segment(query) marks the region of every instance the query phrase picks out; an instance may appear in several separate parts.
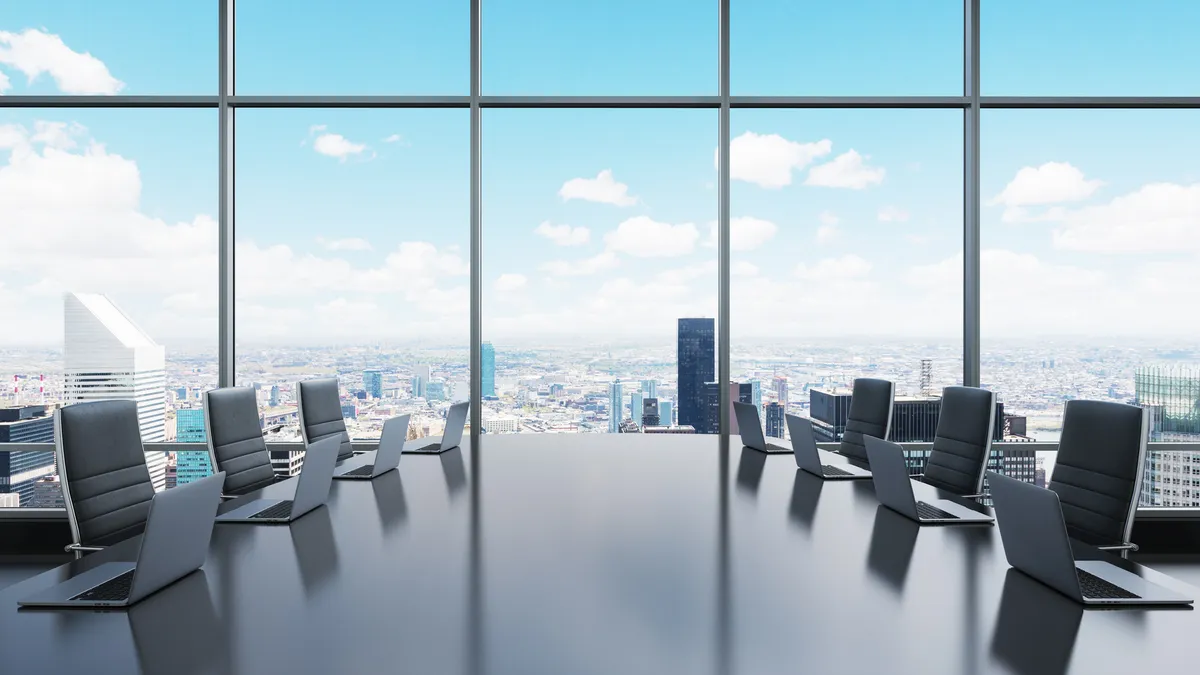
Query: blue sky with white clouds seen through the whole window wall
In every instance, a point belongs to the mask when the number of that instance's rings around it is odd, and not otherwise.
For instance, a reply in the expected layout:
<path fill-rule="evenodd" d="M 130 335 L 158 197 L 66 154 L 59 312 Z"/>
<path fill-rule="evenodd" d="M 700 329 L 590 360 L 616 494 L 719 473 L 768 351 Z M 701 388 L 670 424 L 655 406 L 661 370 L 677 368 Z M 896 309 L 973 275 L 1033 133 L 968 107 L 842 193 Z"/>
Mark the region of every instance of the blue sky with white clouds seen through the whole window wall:
<path fill-rule="evenodd" d="M 738 95 L 961 92 L 961 2 L 732 4 Z M 238 7 L 239 94 L 466 94 L 469 4 Z M 1086 10 L 1086 11 L 1085 11 Z M 215 94 L 216 4 L 8 0 L 0 96 Z M 484 6 L 485 94 L 716 92 L 716 2 Z M 206 28 L 205 28 L 206 26 Z M 985 0 L 985 95 L 1198 95 L 1200 4 Z M 962 114 L 732 124 L 734 339 L 961 340 Z M 1196 110 L 984 110 L 983 335 L 1194 335 Z M 484 330 L 715 316 L 715 110 L 487 109 Z M 215 347 L 215 110 L 0 107 L 0 345 L 107 293 Z M 468 342 L 466 110 L 236 114 L 240 344 Z M 1115 317 L 1136 317 L 1117 321 Z M 211 336 L 208 339 L 205 336 Z"/>

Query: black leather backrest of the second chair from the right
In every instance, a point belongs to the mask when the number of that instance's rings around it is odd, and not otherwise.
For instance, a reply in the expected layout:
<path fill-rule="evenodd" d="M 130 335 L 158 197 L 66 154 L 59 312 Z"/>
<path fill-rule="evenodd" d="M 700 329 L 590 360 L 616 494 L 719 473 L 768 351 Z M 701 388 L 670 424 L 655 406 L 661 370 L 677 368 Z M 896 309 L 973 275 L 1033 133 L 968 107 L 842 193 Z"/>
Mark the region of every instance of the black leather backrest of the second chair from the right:
<path fill-rule="evenodd" d="M 996 394 L 976 387 L 942 389 L 934 449 L 922 480 L 956 495 L 978 495 L 996 428 Z"/>

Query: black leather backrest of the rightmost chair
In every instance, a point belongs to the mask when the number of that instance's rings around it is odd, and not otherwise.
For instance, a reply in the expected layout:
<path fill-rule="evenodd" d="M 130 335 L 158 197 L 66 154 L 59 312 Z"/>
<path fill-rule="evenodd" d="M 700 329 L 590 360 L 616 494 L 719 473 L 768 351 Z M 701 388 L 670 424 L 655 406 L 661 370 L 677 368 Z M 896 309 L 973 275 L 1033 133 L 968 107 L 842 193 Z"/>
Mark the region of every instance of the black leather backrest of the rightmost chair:
<path fill-rule="evenodd" d="M 1048 488 L 1067 533 L 1093 545 L 1129 540 L 1146 462 L 1150 411 L 1110 401 L 1067 401 Z"/>

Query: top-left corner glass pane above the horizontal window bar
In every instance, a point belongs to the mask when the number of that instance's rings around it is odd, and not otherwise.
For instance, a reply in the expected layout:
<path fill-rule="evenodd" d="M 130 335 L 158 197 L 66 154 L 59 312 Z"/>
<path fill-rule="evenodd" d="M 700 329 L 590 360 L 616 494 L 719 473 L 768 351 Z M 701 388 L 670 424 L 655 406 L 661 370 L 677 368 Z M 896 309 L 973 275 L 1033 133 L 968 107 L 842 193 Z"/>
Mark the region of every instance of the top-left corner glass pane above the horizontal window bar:
<path fill-rule="evenodd" d="M 208 0 L 5 0 L 0 95 L 216 95 L 217 7 Z"/>

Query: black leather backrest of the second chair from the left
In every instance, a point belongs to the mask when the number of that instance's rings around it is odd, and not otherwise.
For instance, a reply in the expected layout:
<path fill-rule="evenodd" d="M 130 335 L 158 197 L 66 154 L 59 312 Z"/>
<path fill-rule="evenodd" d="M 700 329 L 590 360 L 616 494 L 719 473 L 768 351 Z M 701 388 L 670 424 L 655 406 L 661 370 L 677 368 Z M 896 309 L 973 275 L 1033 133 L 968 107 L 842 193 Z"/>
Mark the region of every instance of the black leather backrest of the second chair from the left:
<path fill-rule="evenodd" d="M 212 472 L 226 474 L 222 492 L 239 495 L 275 482 L 271 454 L 258 422 L 258 401 L 250 387 L 204 393 L 204 430 Z"/>

